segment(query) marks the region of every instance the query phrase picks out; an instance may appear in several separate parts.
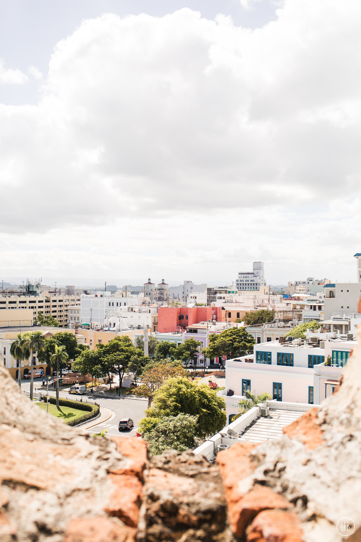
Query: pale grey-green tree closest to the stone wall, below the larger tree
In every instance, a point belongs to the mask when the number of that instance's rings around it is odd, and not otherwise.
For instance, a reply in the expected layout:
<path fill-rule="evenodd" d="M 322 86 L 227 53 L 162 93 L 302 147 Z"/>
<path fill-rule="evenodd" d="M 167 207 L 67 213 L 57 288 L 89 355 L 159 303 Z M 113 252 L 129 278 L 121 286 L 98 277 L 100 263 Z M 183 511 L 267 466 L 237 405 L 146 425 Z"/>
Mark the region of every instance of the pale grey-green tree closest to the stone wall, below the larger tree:
<path fill-rule="evenodd" d="M 150 431 L 146 430 L 146 424 L 143 428 L 141 420 L 139 430 L 143 440 L 149 442 L 150 453 L 159 455 L 165 450 L 185 451 L 194 448 L 196 425 L 196 416 L 178 414 L 178 416 L 165 416 L 156 420 Z"/>

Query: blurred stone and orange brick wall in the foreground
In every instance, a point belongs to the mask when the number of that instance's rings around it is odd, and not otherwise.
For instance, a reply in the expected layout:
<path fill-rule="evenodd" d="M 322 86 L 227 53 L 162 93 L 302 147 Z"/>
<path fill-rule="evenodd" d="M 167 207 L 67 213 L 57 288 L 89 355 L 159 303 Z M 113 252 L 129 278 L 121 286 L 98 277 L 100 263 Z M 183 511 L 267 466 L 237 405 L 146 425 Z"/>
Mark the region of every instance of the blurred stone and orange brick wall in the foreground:
<path fill-rule="evenodd" d="M 0 540 L 361 540 L 361 350 L 339 391 L 278 440 L 234 444 L 211 466 L 191 451 L 149 457 L 47 416 L 0 368 Z"/>

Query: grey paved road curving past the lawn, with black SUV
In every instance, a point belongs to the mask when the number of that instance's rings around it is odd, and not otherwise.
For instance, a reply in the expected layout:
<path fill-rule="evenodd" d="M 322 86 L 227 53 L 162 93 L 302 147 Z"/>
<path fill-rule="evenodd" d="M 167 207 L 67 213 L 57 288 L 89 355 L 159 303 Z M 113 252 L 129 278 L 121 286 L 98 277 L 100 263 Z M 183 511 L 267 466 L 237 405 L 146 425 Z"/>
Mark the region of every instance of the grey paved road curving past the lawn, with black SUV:
<path fill-rule="evenodd" d="M 34 389 L 40 388 L 42 384 L 42 379 L 36 379 L 34 380 Z M 30 391 L 30 381 L 29 380 L 22 380 L 21 381 L 21 389 L 25 391 Z M 44 392 L 45 390 L 43 390 Z M 54 388 L 49 388 L 49 395 L 55 397 L 55 390 Z M 63 397 L 64 399 L 74 399 L 78 396 L 69 395 L 68 391 L 62 390 L 59 392 L 59 396 Z M 84 396 L 83 396 L 84 397 Z M 106 422 L 100 423 L 99 425 L 95 425 L 91 429 L 89 429 L 89 433 L 100 433 L 103 429 L 107 428 L 107 432 L 109 435 L 122 435 L 122 436 L 135 436 L 136 429 L 138 427 L 138 423 L 140 420 L 145 417 L 144 411 L 148 407 L 148 399 L 137 399 L 137 398 L 123 398 L 123 397 L 109 397 L 109 398 L 98 398 L 95 394 L 94 396 L 91 396 L 89 394 L 90 401 L 95 401 L 96 403 L 100 404 L 101 407 L 110 409 L 114 412 L 114 415 L 107 420 Z M 122 418 L 132 418 L 134 422 L 134 429 L 131 431 L 119 431 L 118 430 L 118 424 L 119 420 Z M 96 421 L 94 421 L 96 423 Z M 89 421 L 88 424 L 83 425 L 80 427 L 80 429 L 85 428 L 87 426 L 91 425 L 91 421 Z"/>

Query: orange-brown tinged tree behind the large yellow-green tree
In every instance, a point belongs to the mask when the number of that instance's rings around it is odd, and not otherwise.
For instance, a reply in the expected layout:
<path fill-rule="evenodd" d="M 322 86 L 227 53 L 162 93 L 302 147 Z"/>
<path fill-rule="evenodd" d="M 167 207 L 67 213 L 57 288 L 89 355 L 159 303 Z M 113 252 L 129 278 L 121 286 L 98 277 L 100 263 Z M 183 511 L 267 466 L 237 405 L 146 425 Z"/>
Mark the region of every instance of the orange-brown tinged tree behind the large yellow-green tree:
<path fill-rule="evenodd" d="M 182 366 L 171 363 L 156 363 L 143 372 L 142 384 L 137 386 L 134 393 L 139 397 L 148 399 L 148 408 L 152 404 L 154 394 L 165 383 L 168 378 L 176 376 L 187 376 L 187 371 Z"/>

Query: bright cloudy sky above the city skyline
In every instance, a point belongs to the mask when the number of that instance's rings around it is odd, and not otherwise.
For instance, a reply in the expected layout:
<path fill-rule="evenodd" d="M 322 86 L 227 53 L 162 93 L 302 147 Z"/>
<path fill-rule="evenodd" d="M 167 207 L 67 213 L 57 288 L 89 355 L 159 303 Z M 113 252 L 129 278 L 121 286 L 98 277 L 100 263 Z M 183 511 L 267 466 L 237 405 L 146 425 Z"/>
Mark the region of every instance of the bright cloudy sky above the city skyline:
<path fill-rule="evenodd" d="M 356 280 L 357 0 L 0 1 L 4 280 Z M 116 282 L 115 282 L 116 281 Z"/>

